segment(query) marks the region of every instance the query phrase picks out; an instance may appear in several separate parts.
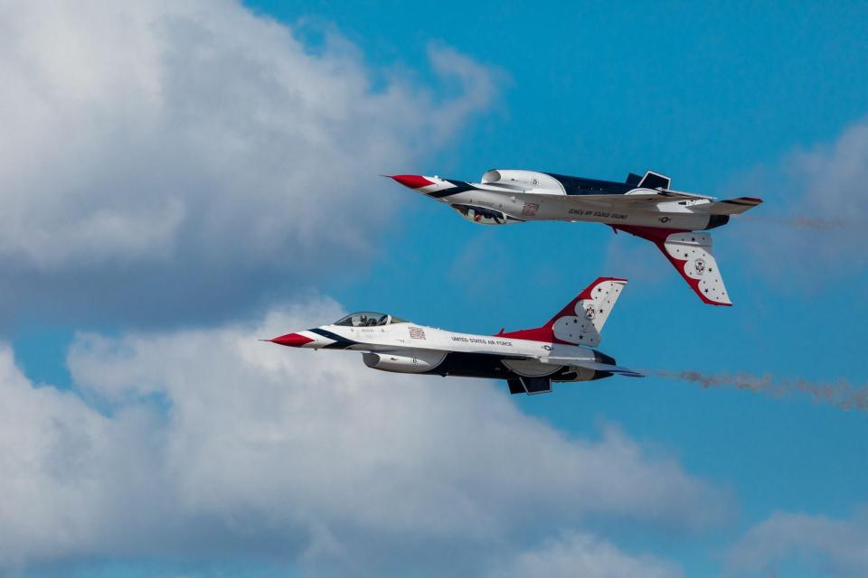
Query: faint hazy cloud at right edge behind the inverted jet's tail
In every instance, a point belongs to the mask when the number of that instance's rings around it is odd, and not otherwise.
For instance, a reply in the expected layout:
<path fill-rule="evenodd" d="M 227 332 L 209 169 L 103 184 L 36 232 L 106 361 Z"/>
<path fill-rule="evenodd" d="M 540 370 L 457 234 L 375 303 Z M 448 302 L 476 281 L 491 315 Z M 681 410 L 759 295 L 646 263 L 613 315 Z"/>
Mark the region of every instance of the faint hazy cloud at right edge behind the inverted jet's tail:
<path fill-rule="evenodd" d="M 752 229 L 744 240 L 754 265 L 764 275 L 816 290 L 829 276 L 863 271 L 866 182 L 868 119 L 846 127 L 831 144 L 793 152 L 777 166 L 742 177 L 738 186 L 769 201 L 740 218 Z"/>

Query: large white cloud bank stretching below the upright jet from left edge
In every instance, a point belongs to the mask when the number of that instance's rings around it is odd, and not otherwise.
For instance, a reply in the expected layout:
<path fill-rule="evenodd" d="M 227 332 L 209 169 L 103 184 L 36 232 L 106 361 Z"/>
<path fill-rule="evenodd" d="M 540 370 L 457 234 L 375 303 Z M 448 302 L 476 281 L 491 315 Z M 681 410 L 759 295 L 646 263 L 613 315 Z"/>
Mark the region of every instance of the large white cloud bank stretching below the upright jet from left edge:
<path fill-rule="evenodd" d="M 726 517 L 725 492 L 614 425 L 573 438 L 490 382 L 384 374 L 357 353 L 256 340 L 340 309 L 83 334 L 73 392 L 34 386 L 3 348 L 2 565 L 220 555 L 312 573 L 478 573 L 590 519 L 689 532 Z M 583 540 L 552 547 L 619 559 Z"/>

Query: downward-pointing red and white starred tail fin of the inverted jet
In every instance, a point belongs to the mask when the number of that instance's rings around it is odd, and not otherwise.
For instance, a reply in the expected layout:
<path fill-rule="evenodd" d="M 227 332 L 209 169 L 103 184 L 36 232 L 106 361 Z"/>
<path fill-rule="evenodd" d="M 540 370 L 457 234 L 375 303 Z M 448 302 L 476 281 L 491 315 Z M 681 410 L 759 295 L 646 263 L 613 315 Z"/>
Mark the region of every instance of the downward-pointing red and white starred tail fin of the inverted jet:
<path fill-rule="evenodd" d="M 645 238 L 654 243 L 684 281 L 699 295 L 703 303 L 710 305 L 731 305 L 726 287 L 723 285 L 721 271 L 712 254 L 710 233 L 673 231 L 665 228 L 636 227 L 615 225 L 613 228 L 630 235 Z"/>

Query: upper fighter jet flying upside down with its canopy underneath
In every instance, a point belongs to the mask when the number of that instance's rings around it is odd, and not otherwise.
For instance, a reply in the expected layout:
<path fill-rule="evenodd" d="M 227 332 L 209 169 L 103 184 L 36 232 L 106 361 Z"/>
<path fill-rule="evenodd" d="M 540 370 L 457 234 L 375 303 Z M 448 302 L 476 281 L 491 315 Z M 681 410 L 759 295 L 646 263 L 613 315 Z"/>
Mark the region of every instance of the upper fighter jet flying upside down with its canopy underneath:
<path fill-rule="evenodd" d="M 587 221 L 609 225 L 653 242 L 704 303 L 731 305 L 712 255 L 712 236 L 697 232 L 721 227 L 759 205 L 753 197 L 714 197 L 670 189 L 669 177 L 648 171 L 625 182 L 598 181 L 552 172 L 493 169 L 482 182 L 416 174 L 392 176 L 402 185 L 448 203 L 482 225 L 531 220 Z"/>

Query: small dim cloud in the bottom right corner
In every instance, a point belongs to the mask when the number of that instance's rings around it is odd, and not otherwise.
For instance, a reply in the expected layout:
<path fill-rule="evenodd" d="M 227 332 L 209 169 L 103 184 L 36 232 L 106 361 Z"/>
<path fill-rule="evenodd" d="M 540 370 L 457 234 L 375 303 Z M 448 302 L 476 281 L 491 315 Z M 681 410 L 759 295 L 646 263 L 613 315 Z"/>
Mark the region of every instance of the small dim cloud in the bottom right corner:
<path fill-rule="evenodd" d="M 823 575 L 868 575 L 868 508 L 851 519 L 833 519 L 777 512 L 751 527 L 731 548 L 731 573 L 776 575 L 778 568 L 797 562 Z"/>

